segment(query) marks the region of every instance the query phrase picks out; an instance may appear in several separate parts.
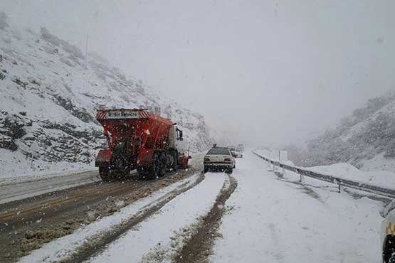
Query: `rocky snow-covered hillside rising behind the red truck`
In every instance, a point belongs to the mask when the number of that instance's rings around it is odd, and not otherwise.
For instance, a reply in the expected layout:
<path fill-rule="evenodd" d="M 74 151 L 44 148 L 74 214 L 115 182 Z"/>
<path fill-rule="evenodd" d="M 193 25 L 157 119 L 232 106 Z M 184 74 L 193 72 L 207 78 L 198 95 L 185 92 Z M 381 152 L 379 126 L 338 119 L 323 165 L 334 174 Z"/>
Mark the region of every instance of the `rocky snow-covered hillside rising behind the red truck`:
<path fill-rule="evenodd" d="M 109 65 L 53 36 L 17 31 L 0 16 L 0 177 L 90 166 L 103 144 L 99 107 L 160 111 L 184 129 L 192 151 L 211 143 L 204 117 L 157 95 Z"/>

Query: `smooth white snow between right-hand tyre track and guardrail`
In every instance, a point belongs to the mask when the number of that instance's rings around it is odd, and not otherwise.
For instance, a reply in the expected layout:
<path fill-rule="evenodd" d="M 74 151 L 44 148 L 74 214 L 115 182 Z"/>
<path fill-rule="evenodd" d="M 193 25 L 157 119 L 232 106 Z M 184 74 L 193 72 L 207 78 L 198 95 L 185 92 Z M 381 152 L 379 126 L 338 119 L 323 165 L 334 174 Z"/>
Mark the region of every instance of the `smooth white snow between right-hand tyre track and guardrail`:
<path fill-rule="evenodd" d="M 253 154 L 237 159 L 211 262 L 381 262 L 381 202 L 302 186 L 289 172 L 280 181 L 267 168 Z"/>

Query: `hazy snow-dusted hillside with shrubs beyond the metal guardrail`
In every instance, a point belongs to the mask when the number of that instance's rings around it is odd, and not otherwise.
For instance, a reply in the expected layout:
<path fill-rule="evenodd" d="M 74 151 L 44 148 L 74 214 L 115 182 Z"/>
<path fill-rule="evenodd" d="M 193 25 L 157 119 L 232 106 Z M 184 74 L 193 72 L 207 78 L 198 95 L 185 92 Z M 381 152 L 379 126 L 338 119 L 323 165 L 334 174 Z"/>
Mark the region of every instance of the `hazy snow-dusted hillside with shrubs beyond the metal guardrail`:
<path fill-rule="evenodd" d="M 395 171 L 395 95 L 367 102 L 341 120 L 335 129 L 307 141 L 307 151 L 290 147 L 300 166 L 351 163 L 362 170 Z"/>

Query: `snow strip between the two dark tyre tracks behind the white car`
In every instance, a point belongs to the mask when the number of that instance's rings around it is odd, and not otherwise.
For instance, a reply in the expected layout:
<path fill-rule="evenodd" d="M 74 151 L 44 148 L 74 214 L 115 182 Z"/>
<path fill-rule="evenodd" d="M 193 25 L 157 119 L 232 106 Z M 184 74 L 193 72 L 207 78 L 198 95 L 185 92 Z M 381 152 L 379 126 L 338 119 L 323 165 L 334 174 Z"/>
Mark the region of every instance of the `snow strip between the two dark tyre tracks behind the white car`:
<path fill-rule="evenodd" d="M 209 213 L 225 178 L 224 173 L 206 173 L 198 186 L 174 198 L 90 262 L 171 262 L 189 235 L 184 230 Z"/>

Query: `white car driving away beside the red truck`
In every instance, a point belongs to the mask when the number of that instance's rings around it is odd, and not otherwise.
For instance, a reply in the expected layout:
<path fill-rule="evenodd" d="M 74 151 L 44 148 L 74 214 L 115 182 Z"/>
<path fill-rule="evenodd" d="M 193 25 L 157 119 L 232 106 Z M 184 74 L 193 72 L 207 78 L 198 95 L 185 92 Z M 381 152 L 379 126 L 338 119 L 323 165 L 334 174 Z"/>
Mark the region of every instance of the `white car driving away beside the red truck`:
<path fill-rule="evenodd" d="M 236 168 L 236 160 L 227 148 L 212 148 L 204 156 L 204 172 L 225 171 L 232 173 Z"/>

